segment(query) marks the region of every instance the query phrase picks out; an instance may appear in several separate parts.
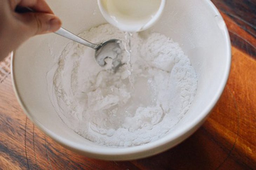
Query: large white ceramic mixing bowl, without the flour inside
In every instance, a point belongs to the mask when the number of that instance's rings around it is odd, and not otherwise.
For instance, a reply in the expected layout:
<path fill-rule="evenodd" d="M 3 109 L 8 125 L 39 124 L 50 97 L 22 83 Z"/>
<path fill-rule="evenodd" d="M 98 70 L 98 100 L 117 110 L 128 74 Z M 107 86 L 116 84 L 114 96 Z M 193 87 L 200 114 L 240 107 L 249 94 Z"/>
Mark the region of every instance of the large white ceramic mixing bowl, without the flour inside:
<path fill-rule="evenodd" d="M 63 27 L 80 33 L 106 23 L 95 0 L 54 0 L 49 5 Z M 186 116 L 165 137 L 130 148 L 92 143 L 68 129 L 54 111 L 47 93 L 46 74 L 69 41 L 55 34 L 36 36 L 12 57 L 12 75 L 17 98 L 29 117 L 48 136 L 88 157 L 130 160 L 174 147 L 202 125 L 220 98 L 228 79 L 231 54 L 225 23 L 210 0 L 167 1 L 161 19 L 152 27 L 178 42 L 198 75 L 198 90 Z M 52 47 L 49 49 L 49 47 Z"/>

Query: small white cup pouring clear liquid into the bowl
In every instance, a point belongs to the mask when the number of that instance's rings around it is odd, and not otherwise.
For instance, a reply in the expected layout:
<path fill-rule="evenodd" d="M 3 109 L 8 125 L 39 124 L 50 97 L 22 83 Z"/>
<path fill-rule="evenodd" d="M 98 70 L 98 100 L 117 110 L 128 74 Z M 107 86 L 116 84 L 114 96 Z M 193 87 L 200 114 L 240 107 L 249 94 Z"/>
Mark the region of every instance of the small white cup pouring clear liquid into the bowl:
<path fill-rule="evenodd" d="M 103 17 L 122 31 L 148 29 L 160 18 L 166 0 L 97 0 Z"/>

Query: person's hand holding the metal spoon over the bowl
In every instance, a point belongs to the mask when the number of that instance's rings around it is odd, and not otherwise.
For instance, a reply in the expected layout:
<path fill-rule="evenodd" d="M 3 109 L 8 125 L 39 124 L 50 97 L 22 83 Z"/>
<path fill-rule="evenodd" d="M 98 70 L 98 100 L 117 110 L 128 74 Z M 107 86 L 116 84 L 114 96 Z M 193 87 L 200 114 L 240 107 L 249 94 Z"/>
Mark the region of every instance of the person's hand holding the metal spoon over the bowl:
<path fill-rule="evenodd" d="M 36 12 L 19 14 L 16 6 Z M 57 31 L 61 21 L 45 0 L 1 0 L 0 2 L 0 61 L 28 38 Z"/>

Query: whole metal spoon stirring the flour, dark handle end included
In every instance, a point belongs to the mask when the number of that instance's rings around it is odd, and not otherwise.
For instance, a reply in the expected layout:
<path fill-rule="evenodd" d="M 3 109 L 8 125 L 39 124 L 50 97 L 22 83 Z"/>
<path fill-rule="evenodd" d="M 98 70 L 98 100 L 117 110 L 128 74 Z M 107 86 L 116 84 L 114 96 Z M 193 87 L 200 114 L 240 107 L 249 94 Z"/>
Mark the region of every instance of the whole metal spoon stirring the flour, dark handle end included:
<path fill-rule="evenodd" d="M 15 8 L 15 12 L 26 13 L 26 12 L 34 12 L 34 10 L 28 7 L 17 6 Z M 83 44 L 87 47 L 93 48 L 95 50 L 94 58 L 96 62 L 102 67 L 107 64 L 105 61 L 106 58 L 112 59 L 112 69 L 114 71 L 116 71 L 121 65 L 123 65 L 121 63 L 121 58 L 120 58 L 120 53 L 121 53 L 121 48 L 119 45 L 121 42 L 120 40 L 111 39 L 111 40 L 102 42 L 100 44 L 94 44 L 71 33 L 70 31 L 62 27 L 58 31 L 56 31 L 55 34 L 61 35 L 65 38 L 68 38 L 69 40 L 72 40 L 80 44 Z"/>

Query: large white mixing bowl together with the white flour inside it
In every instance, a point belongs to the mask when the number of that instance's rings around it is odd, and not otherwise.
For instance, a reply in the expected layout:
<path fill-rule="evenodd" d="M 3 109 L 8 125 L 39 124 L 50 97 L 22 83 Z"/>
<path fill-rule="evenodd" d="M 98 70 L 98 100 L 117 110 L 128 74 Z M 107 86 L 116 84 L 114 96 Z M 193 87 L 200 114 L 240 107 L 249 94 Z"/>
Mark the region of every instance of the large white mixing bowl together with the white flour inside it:
<path fill-rule="evenodd" d="M 66 28 L 92 42 L 124 38 L 94 1 L 49 4 Z M 105 160 L 147 157 L 182 142 L 227 82 L 230 41 L 220 13 L 208 0 L 167 1 L 155 26 L 131 42 L 132 68 L 124 64 L 116 73 L 98 66 L 93 50 L 58 35 L 23 44 L 12 75 L 28 117 L 63 146 Z M 120 54 L 126 63 L 126 51 Z"/>

